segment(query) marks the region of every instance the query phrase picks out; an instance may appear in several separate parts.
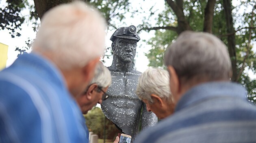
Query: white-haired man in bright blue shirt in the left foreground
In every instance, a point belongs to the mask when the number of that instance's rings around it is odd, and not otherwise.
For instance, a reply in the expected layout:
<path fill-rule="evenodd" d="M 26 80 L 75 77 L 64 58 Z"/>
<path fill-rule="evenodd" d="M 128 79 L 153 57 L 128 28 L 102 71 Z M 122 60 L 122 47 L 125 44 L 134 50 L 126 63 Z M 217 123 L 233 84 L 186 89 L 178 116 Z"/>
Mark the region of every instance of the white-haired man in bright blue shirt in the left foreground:
<path fill-rule="evenodd" d="M 32 53 L 0 72 L 0 142 L 88 143 L 74 97 L 93 78 L 104 40 L 103 17 L 84 2 L 46 12 Z"/>

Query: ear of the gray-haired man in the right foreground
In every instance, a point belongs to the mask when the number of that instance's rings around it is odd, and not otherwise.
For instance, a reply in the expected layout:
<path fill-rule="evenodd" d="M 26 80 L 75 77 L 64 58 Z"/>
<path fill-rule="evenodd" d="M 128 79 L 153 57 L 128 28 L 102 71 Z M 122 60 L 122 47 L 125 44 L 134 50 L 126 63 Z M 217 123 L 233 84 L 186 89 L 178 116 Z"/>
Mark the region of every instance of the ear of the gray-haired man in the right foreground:
<path fill-rule="evenodd" d="M 173 66 L 168 65 L 167 67 L 170 74 L 170 89 L 171 93 L 174 95 L 174 102 L 178 101 L 181 96 L 181 84 L 178 78 L 178 74 Z"/>

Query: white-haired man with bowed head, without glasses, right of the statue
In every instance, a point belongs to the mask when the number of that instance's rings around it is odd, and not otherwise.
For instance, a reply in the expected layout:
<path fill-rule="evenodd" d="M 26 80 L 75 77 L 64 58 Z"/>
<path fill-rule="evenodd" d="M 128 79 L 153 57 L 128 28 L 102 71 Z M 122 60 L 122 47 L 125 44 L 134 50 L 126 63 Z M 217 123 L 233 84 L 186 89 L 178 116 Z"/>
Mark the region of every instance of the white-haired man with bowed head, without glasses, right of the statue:
<path fill-rule="evenodd" d="M 139 77 L 136 93 L 146 104 L 147 110 L 154 112 L 159 119 L 174 112 L 168 71 L 159 68 L 144 71 Z"/>

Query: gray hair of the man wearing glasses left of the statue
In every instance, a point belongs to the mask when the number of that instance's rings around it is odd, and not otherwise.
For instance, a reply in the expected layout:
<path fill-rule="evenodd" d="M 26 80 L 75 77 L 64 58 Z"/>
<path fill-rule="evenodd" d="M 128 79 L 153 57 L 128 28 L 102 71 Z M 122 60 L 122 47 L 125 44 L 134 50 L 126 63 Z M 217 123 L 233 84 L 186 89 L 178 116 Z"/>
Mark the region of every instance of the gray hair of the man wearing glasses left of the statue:
<path fill-rule="evenodd" d="M 101 62 L 99 62 L 96 65 L 94 77 L 88 85 L 96 83 L 99 87 L 106 88 L 111 84 L 111 82 L 112 78 L 110 71 Z"/>

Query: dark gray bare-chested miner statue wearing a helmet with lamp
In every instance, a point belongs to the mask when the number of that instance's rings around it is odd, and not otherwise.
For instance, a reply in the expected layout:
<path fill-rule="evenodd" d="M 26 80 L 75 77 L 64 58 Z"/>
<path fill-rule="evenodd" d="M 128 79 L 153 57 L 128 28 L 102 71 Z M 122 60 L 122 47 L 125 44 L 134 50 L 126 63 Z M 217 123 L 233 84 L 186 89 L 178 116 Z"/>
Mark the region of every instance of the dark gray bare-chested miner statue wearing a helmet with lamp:
<path fill-rule="evenodd" d="M 132 142 L 142 129 L 154 126 L 158 120 L 156 115 L 147 111 L 146 105 L 136 95 L 138 78 L 141 72 L 135 69 L 133 59 L 137 42 L 140 40 L 136 27 L 120 27 L 111 36 L 113 42 L 113 63 L 111 71 L 112 84 L 109 86 L 108 99 L 102 101 L 102 111 L 122 132 L 132 136 Z M 141 113 L 142 111 L 142 113 Z"/>

